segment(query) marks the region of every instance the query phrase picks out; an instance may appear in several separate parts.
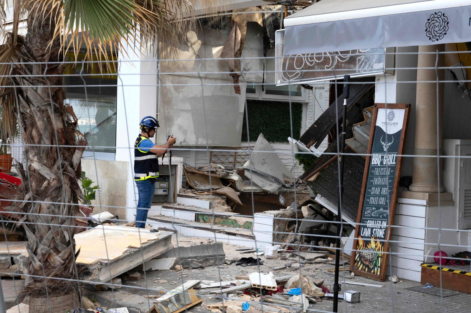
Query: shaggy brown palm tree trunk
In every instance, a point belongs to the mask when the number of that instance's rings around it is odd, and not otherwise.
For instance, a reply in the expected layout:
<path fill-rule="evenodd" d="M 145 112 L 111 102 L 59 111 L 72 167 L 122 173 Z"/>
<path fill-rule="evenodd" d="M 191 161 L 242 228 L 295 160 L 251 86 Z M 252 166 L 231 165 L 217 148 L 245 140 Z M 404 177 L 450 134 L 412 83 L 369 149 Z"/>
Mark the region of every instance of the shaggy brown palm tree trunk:
<path fill-rule="evenodd" d="M 78 291 L 77 282 L 67 279 L 78 278 L 73 216 L 81 197 L 77 178 L 84 148 L 76 146 L 84 145 L 84 140 L 79 139 L 72 107 L 64 105 L 65 65 L 57 63 L 63 55 L 59 42 L 50 42 L 55 21 L 49 14 L 35 14 L 32 6 L 25 44 L 17 57 L 17 62 L 24 63 L 14 67 L 13 76 L 26 144 L 19 190 L 24 201 L 15 206 L 23 215 L 28 238 L 30 276 L 22 295 L 51 297 Z"/>

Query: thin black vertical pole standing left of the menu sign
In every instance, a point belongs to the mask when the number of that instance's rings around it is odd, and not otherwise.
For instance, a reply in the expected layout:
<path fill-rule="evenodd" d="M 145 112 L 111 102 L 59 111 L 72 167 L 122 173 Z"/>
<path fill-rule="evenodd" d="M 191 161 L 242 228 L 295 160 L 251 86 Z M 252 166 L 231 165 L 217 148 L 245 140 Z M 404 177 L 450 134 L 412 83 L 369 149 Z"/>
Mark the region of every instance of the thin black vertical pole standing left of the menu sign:
<path fill-rule="evenodd" d="M 339 170 L 339 202 L 337 207 L 337 242 L 335 248 L 335 278 L 333 281 L 333 312 L 338 312 L 339 305 L 339 267 L 340 267 L 340 225 L 341 225 L 341 199 L 343 194 L 343 156 L 341 153 L 345 150 L 345 127 L 347 124 L 347 99 L 349 98 L 350 75 L 343 76 L 343 115 L 342 115 L 342 137 L 340 141 L 340 170 Z"/>

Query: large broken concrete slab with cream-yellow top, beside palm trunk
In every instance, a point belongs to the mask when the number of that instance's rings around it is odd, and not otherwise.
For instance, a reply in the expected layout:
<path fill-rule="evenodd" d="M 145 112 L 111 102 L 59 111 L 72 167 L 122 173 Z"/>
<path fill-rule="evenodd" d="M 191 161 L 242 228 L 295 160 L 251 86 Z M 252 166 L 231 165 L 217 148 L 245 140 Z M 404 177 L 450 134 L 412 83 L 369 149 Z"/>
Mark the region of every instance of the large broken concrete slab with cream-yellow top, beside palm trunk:
<path fill-rule="evenodd" d="M 86 280 L 103 283 L 170 250 L 171 235 L 135 227 L 99 225 L 75 235 L 75 247 L 80 248 L 76 263 L 88 268 L 90 274 Z"/>

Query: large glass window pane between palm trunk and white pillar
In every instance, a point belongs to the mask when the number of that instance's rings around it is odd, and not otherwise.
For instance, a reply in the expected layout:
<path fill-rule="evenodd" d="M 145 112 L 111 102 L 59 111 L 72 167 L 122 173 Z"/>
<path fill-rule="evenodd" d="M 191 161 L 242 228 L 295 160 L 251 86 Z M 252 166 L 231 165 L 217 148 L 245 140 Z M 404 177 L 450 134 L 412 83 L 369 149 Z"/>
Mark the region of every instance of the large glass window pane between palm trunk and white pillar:
<path fill-rule="evenodd" d="M 116 152 L 116 97 L 68 98 L 64 102 L 73 107 L 79 130 L 88 140 L 85 151 Z"/>

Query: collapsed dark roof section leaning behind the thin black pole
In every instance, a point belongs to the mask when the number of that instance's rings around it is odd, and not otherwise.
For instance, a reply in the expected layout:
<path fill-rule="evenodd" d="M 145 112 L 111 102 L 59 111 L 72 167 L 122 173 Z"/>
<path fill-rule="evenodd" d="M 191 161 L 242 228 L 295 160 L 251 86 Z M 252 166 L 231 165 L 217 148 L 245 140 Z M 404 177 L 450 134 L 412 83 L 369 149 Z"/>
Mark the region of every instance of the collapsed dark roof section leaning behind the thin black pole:
<path fill-rule="evenodd" d="M 365 153 L 365 143 L 367 145 L 369 127 L 371 122 L 371 109 L 368 107 L 374 104 L 374 83 L 372 78 L 363 78 L 352 84 L 350 87 L 350 98 L 347 99 L 347 123 L 345 125 L 345 136 L 348 147 L 345 153 L 344 178 L 343 178 L 343 199 L 342 218 L 349 223 L 357 220 L 358 204 L 360 200 L 363 173 L 365 169 L 365 158 L 361 155 L 351 155 L 351 153 Z M 363 83 L 362 83 L 363 82 Z M 340 85 L 339 85 L 340 86 Z M 298 144 L 305 145 L 306 148 L 317 148 L 324 138 L 335 130 L 334 126 L 342 118 L 343 99 L 339 97 L 335 102 L 317 119 L 308 131 L 306 131 L 298 141 Z M 337 107 L 337 109 L 336 109 Z M 341 126 L 339 125 L 339 128 Z M 338 132 L 335 133 L 340 133 Z M 309 169 L 300 176 L 306 181 L 309 188 L 317 196 L 315 201 L 325 208 L 337 214 L 337 203 L 339 199 L 339 164 L 338 145 L 336 138 L 331 145 L 316 159 Z"/>

